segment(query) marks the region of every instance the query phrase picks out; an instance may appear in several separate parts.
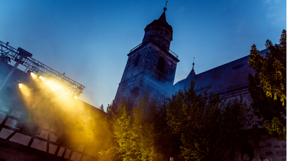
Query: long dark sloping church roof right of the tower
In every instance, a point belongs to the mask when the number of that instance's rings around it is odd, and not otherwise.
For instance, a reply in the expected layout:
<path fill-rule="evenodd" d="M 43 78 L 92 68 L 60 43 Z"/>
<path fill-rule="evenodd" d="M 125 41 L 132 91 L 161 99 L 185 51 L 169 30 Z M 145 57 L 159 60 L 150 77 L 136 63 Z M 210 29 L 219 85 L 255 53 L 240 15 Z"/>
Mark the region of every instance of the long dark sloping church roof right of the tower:
<path fill-rule="evenodd" d="M 267 49 L 262 50 L 260 51 L 260 54 L 265 56 L 266 51 Z M 195 88 L 198 93 L 205 90 L 208 85 L 211 85 L 211 89 L 209 90 L 210 92 L 224 92 L 242 87 L 247 88 L 248 74 L 255 73 L 254 70 L 249 67 L 248 60 L 249 55 L 197 75 L 188 76 L 186 79 L 174 84 L 173 94 L 182 90 L 184 86 L 188 88 L 190 86 L 191 79 L 195 81 Z"/>

